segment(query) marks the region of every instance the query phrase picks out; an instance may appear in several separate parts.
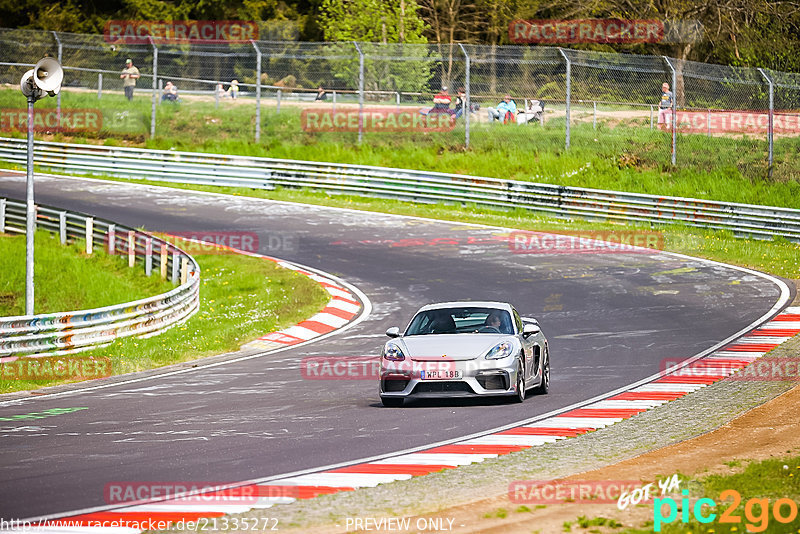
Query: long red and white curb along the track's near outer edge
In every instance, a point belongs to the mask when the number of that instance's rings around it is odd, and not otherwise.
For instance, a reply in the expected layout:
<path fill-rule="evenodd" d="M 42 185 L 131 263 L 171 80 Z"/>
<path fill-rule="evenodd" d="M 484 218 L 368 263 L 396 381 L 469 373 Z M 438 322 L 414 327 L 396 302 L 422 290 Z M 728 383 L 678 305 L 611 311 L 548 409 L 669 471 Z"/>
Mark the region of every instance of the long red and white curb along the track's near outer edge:
<path fill-rule="evenodd" d="M 337 297 L 342 296 L 334 295 L 333 298 Z M 329 312 L 323 310 L 320 313 Z M 316 332 L 314 328 L 307 330 Z M 297 330 L 292 332 L 298 333 Z M 302 339 L 295 334 L 288 335 Z M 529 424 L 354 465 L 242 483 L 250 488 L 251 497 L 240 502 L 236 502 L 236 498 L 230 496 L 228 491 L 222 490 L 62 517 L 50 520 L 48 526 L 41 528 L 47 532 L 65 534 L 134 534 L 148 528 L 148 521 L 177 523 L 196 522 L 200 518 L 213 519 L 253 508 L 269 508 L 321 494 L 374 487 L 482 462 L 487 458 L 592 432 L 683 397 L 744 369 L 797 334 L 800 334 L 800 307 L 786 308 L 771 321 L 688 365 L 668 369 L 650 382 L 614 392 L 607 398 Z M 198 500 L 207 502 L 198 504 Z M 125 526 L 132 524 L 139 528 Z"/>

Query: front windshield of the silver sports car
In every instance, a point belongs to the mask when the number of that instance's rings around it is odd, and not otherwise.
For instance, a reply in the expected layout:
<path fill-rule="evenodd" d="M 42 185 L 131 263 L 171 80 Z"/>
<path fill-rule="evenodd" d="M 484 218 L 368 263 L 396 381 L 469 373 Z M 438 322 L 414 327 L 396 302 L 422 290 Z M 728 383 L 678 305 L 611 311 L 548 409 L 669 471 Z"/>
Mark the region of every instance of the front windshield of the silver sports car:
<path fill-rule="evenodd" d="M 513 334 L 511 314 L 497 308 L 439 308 L 418 313 L 407 336 L 425 334 Z"/>

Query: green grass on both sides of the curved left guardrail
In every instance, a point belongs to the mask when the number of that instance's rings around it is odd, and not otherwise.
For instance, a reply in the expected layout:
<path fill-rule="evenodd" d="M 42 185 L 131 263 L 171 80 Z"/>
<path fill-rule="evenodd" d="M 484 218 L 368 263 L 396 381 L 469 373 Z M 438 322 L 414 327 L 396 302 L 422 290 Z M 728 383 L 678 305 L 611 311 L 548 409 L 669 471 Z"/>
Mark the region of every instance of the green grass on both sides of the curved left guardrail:
<path fill-rule="evenodd" d="M 102 251 L 86 257 L 80 242 L 61 246 L 46 232 L 37 233 L 36 240 L 36 296 L 41 302 L 37 313 L 119 304 L 174 287 L 157 276 L 147 278 L 139 264 L 129 269 L 120 257 Z M 24 254 L 24 236 L 0 234 L 0 317 L 24 311 Z M 319 284 L 268 260 L 241 255 L 195 255 L 195 259 L 201 269 L 197 314 L 163 334 L 117 340 L 79 356 L 109 358 L 114 375 L 154 369 L 237 350 L 247 341 L 313 315 L 328 301 Z M 4 379 L 0 373 L 0 393 L 61 383 Z"/>

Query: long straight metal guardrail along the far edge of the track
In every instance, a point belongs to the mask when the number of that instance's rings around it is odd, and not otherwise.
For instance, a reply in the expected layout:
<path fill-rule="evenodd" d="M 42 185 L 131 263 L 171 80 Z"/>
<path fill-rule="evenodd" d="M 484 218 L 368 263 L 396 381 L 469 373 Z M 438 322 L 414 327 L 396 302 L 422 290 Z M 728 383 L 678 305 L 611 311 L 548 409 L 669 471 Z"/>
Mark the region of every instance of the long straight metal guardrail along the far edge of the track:
<path fill-rule="evenodd" d="M 0 138 L 0 160 L 25 164 L 25 140 Z M 200 185 L 307 187 L 414 202 L 523 208 L 554 217 L 680 223 L 758 238 L 800 241 L 800 210 L 366 165 L 169 150 L 37 142 L 37 165 L 54 171 Z"/>

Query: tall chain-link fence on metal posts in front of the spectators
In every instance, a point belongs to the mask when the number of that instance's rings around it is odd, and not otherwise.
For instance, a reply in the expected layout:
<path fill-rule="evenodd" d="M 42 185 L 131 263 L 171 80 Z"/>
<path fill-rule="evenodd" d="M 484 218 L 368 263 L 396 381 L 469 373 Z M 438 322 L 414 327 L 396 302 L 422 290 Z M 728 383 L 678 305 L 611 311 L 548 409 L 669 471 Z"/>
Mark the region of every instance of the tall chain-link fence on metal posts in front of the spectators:
<path fill-rule="evenodd" d="M 401 136 L 443 149 L 502 143 L 556 151 L 602 145 L 620 167 L 800 179 L 800 75 L 792 73 L 552 47 L 120 44 L 102 35 L 0 29 L 0 83 L 18 87 L 44 55 L 61 60 L 65 79 L 58 101 L 37 107 L 55 107 L 59 116 L 62 107 L 100 110 L 101 137 L 379 145 Z M 131 102 L 120 78 L 126 59 L 141 75 Z M 165 94 L 168 82 L 177 103 Z M 663 83 L 674 98 L 659 113 Z M 0 107 L 24 108 L 21 97 L 10 99 Z M 187 108 L 197 113 L 181 112 Z"/>

